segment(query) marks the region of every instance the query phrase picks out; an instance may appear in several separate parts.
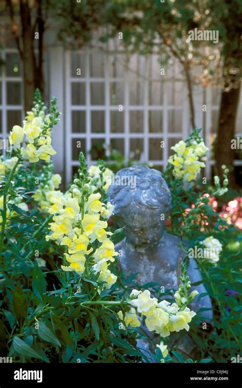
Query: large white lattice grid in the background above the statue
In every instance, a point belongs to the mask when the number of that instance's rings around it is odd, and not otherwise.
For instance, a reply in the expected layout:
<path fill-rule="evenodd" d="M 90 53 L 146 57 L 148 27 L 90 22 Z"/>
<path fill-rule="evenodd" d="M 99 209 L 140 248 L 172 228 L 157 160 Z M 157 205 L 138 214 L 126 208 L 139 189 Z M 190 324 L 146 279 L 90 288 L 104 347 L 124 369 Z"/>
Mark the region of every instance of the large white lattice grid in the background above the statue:
<path fill-rule="evenodd" d="M 72 159 L 72 139 L 86 139 L 86 160 L 88 164 L 95 163 L 96 161 L 91 160 L 91 156 L 88 151 L 91 149 L 91 139 L 105 139 L 105 143 L 110 144 L 112 138 L 124 139 L 124 156 L 125 160 L 128 160 L 130 155 L 129 139 L 142 138 L 143 139 L 143 159 L 145 162 L 149 162 L 156 166 L 164 168 L 167 164 L 168 158 L 168 139 L 181 139 L 186 138 L 189 132 L 189 117 L 184 114 L 188 111 L 188 101 L 186 88 L 183 88 L 184 96 L 182 98 L 182 105 L 168 105 L 166 88 L 168 87 L 168 81 L 162 78 L 151 78 L 148 74 L 148 66 L 146 65 L 146 76 L 143 78 L 143 104 L 138 106 L 129 105 L 129 77 L 118 78 L 109 77 L 108 74 L 108 61 L 110 54 L 105 55 L 105 76 L 104 78 L 90 77 L 90 63 L 89 54 L 95 50 L 85 48 L 77 53 L 86 53 L 86 75 L 77 77 L 71 77 L 71 51 L 65 52 L 65 91 L 66 91 L 66 104 L 65 104 L 65 115 L 66 115 L 66 130 L 65 130 L 65 173 L 66 173 L 66 184 L 71 179 L 72 167 L 78 165 L 78 160 Z M 161 76 L 162 77 L 162 76 Z M 138 81 L 138 79 L 137 79 Z M 150 105 L 149 104 L 149 82 L 161 82 L 163 81 L 164 92 L 163 92 L 163 104 L 162 105 Z M 179 79 L 178 81 L 183 82 Z M 71 105 L 71 82 L 82 82 L 85 83 L 85 105 Z M 104 105 L 93 105 L 91 106 L 90 101 L 90 82 L 104 82 L 105 84 L 105 104 Z M 110 131 L 110 111 L 117 111 L 117 106 L 110 105 L 109 85 L 111 82 L 123 82 L 124 83 L 124 132 L 122 133 L 111 133 Z M 118 104 L 118 103 L 117 103 Z M 120 102 L 121 104 L 121 102 Z M 71 112 L 72 111 L 85 111 L 86 112 L 86 132 L 85 133 L 72 133 L 71 132 Z M 105 112 L 105 132 L 104 133 L 91 133 L 91 111 L 104 111 Z M 129 112 L 130 111 L 142 111 L 143 112 L 143 132 L 141 133 L 130 133 L 129 132 Z M 149 111 L 162 111 L 163 113 L 163 131 L 161 133 L 150 133 L 149 132 Z M 181 132 L 171 133 L 168 131 L 168 112 L 170 110 L 178 110 L 182 113 L 181 119 Z M 161 160 L 153 160 L 149 158 L 149 139 L 161 139 L 164 141 L 165 147 L 162 152 Z M 81 150 L 80 150 L 81 151 Z"/>

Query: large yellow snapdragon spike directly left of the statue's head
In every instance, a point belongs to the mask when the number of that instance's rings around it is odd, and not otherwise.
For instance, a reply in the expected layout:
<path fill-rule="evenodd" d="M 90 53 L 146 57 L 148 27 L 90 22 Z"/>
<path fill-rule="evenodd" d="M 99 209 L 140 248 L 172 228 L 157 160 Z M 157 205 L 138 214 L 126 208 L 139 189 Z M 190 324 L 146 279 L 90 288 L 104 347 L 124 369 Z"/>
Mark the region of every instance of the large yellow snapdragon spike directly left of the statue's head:
<path fill-rule="evenodd" d="M 64 195 L 54 194 L 50 198 L 52 206 L 49 212 L 54 216 L 50 223 L 52 233 L 46 239 L 56 240 L 66 247 L 67 253 L 64 256 L 69 265 L 62 265 L 63 271 L 76 272 L 82 276 L 88 265 L 96 281 L 110 288 L 117 277 L 109 270 L 109 264 L 114 261 L 117 252 L 109 239 L 112 233 L 106 230 L 108 224 L 101 220 L 105 205 L 100 201 L 101 194 L 92 192 L 83 153 L 80 153 L 79 162 L 79 178 L 74 180 Z"/>

